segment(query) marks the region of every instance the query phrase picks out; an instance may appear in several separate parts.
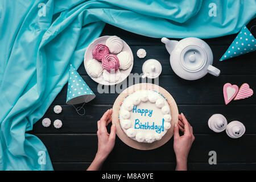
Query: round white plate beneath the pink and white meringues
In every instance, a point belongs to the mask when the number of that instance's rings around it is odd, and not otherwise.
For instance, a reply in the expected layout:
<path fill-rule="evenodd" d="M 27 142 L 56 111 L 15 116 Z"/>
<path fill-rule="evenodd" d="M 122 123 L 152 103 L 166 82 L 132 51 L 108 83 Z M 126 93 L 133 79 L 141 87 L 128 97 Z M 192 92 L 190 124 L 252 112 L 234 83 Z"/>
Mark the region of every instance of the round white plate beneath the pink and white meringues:
<path fill-rule="evenodd" d="M 87 47 L 86 51 L 85 51 L 85 54 L 84 54 L 84 67 L 85 67 L 85 70 L 86 70 L 86 61 L 89 61 L 91 59 L 93 59 L 93 56 L 92 56 L 92 50 L 93 48 L 97 45 L 97 44 L 104 44 L 106 43 L 106 40 L 109 38 L 110 36 L 106 35 L 106 36 L 101 36 L 100 38 L 98 39 L 95 39 L 92 43 L 90 43 L 90 45 Z M 126 44 L 125 41 L 123 41 L 123 49 L 122 51 L 127 51 L 130 53 L 130 56 L 131 56 L 131 60 L 133 61 L 133 52 L 131 52 L 131 48 L 128 46 L 128 44 Z M 133 69 L 133 63 L 131 63 L 131 66 L 130 68 L 128 69 L 120 69 L 120 72 L 121 72 L 121 76 L 119 78 L 118 81 L 116 82 L 108 82 L 106 80 L 104 80 L 102 74 L 101 76 L 97 77 L 97 78 L 93 78 L 93 77 L 90 77 L 92 78 L 94 81 L 96 81 L 98 84 L 101 84 L 101 85 L 115 85 L 115 84 L 119 84 L 120 82 L 122 82 L 123 80 L 125 80 L 125 78 L 127 78 L 127 76 L 129 76 L 129 74 L 131 73 L 131 69 Z M 86 70 L 87 72 L 87 70 Z M 88 73 L 88 72 L 87 72 Z"/>

